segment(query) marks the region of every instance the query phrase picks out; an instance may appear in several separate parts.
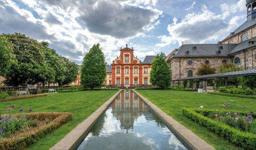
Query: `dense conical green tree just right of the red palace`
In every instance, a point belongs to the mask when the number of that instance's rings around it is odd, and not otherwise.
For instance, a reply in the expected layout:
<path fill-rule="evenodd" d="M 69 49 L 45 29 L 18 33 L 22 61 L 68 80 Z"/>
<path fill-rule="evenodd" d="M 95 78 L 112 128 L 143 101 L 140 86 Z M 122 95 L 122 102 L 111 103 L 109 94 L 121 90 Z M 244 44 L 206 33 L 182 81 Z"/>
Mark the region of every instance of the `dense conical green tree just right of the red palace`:
<path fill-rule="evenodd" d="M 157 54 L 152 62 L 152 70 L 150 71 L 150 82 L 153 85 L 168 88 L 171 85 L 171 70 L 170 66 L 165 61 L 165 54 L 161 52 Z"/>

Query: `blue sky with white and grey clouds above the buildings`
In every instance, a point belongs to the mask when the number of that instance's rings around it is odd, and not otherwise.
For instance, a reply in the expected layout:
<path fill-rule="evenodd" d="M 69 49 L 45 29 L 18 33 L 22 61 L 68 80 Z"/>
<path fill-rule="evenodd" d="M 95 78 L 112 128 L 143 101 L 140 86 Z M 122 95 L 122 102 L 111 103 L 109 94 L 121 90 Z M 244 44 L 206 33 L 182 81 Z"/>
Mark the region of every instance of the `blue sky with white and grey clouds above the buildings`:
<path fill-rule="evenodd" d="M 217 43 L 246 21 L 246 0 L 0 0 L 0 33 L 49 43 L 82 64 L 99 43 L 108 64 L 120 48 L 168 55 L 184 44 Z"/>

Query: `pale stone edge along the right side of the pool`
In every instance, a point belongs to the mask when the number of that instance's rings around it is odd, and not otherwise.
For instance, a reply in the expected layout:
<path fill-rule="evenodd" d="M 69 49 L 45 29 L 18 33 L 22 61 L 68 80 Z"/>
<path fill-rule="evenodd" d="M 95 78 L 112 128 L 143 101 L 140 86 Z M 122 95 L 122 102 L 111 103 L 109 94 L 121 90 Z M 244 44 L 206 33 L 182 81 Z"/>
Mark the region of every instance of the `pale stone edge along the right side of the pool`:
<path fill-rule="evenodd" d="M 178 121 L 172 119 L 171 116 L 164 113 L 160 108 L 155 104 L 150 102 L 147 98 L 143 97 L 139 92 L 133 90 L 142 100 L 146 103 L 153 112 L 161 118 L 164 123 L 171 128 L 175 134 L 177 134 L 192 150 L 216 150 L 213 146 L 206 143 L 200 137 L 195 135 L 192 131 L 178 123 Z"/>

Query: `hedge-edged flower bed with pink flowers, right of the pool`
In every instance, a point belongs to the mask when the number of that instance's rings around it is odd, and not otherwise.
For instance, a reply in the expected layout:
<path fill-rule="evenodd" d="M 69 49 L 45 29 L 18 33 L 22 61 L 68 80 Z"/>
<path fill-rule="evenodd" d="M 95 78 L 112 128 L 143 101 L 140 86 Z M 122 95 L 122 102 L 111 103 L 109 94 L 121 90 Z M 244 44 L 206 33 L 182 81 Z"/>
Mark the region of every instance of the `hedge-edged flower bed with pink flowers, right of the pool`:
<path fill-rule="evenodd" d="M 249 120 L 255 121 L 256 115 L 254 113 L 237 113 L 231 110 L 211 110 L 200 108 L 183 108 L 182 113 L 189 119 L 198 122 L 202 126 L 217 133 L 222 138 L 227 139 L 228 141 L 234 143 L 235 145 L 240 146 L 245 150 L 256 150 L 256 134 L 246 132 L 245 128 L 240 128 L 242 127 L 243 122 L 249 123 Z M 252 119 L 247 118 L 246 116 L 250 116 L 252 117 Z M 254 126 L 252 128 L 256 127 Z"/>

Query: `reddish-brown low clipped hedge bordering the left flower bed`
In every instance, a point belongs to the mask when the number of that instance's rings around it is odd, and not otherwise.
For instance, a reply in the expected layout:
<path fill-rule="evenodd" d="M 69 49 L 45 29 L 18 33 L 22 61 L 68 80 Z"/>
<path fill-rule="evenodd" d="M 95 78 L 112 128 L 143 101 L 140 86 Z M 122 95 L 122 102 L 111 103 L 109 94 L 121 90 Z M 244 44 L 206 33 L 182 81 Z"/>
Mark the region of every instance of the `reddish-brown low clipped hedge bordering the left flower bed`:
<path fill-rule="evenodd" d="M 45 120 L 52 118 L 53 121 L 42 127 L 32 128 L 30 131 L 21 133 L 19 137 L 3 138 L 0 140 L 0 150 L 23 150 L 41 137 L 61 127 L 72 118 L 72 113 L 24 113 L 32 119 Z M 21 117 L 23 113 L 14 116 Z"/>

